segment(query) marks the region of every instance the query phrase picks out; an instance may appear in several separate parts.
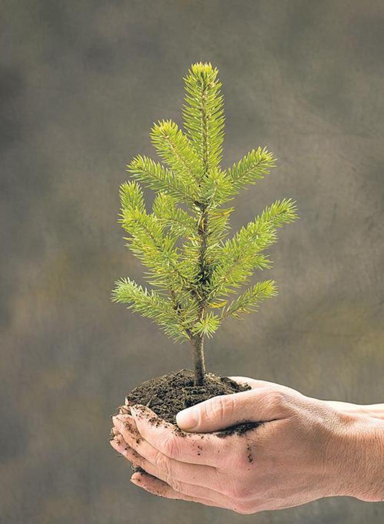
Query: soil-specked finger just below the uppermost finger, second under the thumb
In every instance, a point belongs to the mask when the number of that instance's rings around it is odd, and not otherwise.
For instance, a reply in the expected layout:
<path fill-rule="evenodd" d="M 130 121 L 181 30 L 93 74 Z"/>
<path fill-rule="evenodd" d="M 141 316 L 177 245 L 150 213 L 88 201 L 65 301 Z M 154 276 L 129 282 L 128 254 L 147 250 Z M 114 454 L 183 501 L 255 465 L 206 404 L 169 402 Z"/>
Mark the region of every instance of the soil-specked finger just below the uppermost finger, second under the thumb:
<path fill-rule="evenodd" d="M 121 419 L 122 417 L 119 416 L 114 417 L 114 423 L 117 424 L 124 442 L 156 467 L 157 471 L 162 471 L 164 475 L 162 478 L 173 478 L 205 487 L 213 486 L 217 482 L 217 471 L 214 467 L 171 459 L 142 438 L 133 417 L 125 416 L 123 420 Z"/>

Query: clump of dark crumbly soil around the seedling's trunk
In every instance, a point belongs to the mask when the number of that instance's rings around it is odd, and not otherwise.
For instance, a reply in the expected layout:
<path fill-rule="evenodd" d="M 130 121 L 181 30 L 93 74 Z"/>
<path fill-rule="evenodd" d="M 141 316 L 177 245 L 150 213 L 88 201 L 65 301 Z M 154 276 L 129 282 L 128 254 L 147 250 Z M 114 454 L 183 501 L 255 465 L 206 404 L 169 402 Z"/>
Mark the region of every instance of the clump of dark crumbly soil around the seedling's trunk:
<path fill-rule="evenodd" d="M 176 424 L 176 414 L 182 409 L 218 395 L 229 395 L 248 389 L 251 389 L 248 384 L 237 384 L 228 377 L 220 377 L 213 373 L 206 374 L 204 385 L 196 386 L 193 372 L 190 369 L 180 369 L 170 375 L 146 380 L 128 393 L 127 400 L 132 404 L 147 406 L 158 417 Z M 234 433 L 242 435 L 257 428 L 261 423 L 244 420 L 215 434 L 221 437 Z"/>

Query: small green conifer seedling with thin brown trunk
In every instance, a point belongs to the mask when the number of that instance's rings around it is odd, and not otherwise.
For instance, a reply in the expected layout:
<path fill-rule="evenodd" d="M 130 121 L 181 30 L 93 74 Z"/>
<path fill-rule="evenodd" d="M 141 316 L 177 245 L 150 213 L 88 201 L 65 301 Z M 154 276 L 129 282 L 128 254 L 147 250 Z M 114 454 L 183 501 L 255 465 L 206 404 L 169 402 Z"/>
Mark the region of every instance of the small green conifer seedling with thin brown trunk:
<path fill-rule="evenodd" d="M 275 281 L 262 280 L 228 299 L 255 270 L 271 267 L 265 250 L 277 241 L 278 228 L 297 218 L 291 199 L 277 200 L 226 238 L 234 211 L 228 202 L 264 178 L 275 158 L 259 147 L 222 169 L 225 117 L 217 74 L 211 63 L 191 65 L 184 78 L 185 132 L 171 120 L 153 125 L 150 138 L 166 165 L 138 155 L 127 166 L 134 180 L 120 186 L 119 222 L 153 289 L 122 278 L 112 292 L 114 302 L 153 319 L 175 342 L 191 343 L 196 385 L 204 383 L 205 336 L 228 315 L 240 318 L 277 294 Z M 157 191 L 151 213 L 137 181 Z"/>

